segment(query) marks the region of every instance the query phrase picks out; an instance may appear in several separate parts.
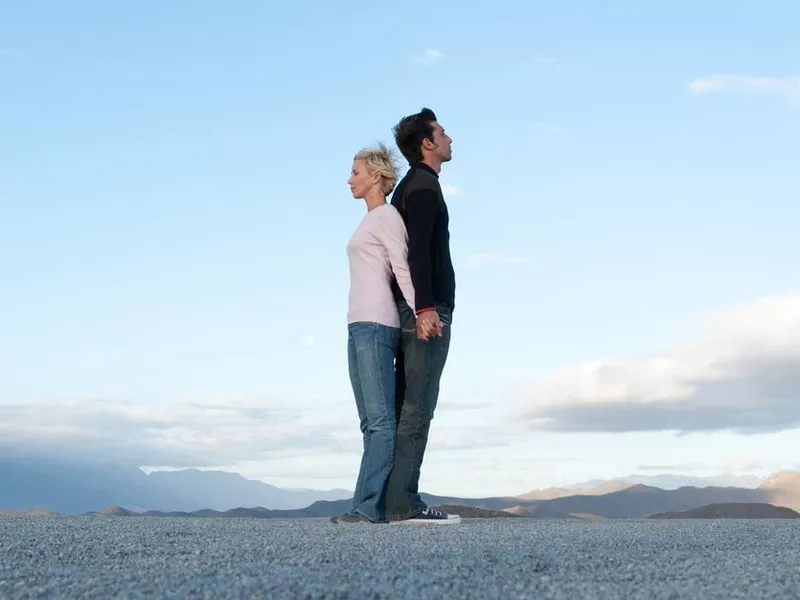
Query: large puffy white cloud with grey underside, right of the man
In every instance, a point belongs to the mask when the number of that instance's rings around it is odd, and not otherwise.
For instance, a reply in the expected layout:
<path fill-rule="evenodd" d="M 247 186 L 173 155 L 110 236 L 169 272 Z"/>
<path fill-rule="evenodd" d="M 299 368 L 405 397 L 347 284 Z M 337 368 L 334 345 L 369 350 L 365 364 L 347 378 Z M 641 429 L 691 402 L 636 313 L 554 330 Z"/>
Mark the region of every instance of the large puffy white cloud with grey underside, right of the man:
<path fill-rule="evenodd" d="M 530 386 L 517 417 L 556 431 L 752 433 L 800 427 L 800 293 L 702 321 L 663 356 L 598 360 Z"/>

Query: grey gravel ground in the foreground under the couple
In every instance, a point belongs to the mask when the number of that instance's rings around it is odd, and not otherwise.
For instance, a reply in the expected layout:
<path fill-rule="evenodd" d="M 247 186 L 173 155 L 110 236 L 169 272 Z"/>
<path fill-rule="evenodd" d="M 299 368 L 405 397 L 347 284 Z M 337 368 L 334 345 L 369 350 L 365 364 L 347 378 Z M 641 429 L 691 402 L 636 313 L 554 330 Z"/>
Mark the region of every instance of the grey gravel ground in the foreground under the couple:
<path fill-rule="evenodd" d="M 800 598 L 800 520 L 0 518 L 0 598 Z"/>

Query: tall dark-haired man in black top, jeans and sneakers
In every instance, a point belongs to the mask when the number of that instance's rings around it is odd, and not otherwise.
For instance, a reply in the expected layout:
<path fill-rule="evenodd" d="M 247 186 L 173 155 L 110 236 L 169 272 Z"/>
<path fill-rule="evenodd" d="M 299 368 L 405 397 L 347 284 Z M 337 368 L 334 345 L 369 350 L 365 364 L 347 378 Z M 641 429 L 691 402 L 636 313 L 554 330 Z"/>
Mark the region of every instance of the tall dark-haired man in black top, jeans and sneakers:
<path fill-rule="evenodd" d="M 418 490 L 455 306 L 449 216 L 439 184 L 439 172 L 442 163 L 451 158 L 453 140 L 428 108 L 404 117 L 393 131 L 409 163 L 408 173 L 392 195 L 392 205 L 408 231 L 408 266 L 416 314 L 395 283 L 403 339 L 396 367 L 395 462 L 386 488 L 386 510 L 391 521 L 456 523 L 460 520 L 457 515 L 429 508 Z"/>

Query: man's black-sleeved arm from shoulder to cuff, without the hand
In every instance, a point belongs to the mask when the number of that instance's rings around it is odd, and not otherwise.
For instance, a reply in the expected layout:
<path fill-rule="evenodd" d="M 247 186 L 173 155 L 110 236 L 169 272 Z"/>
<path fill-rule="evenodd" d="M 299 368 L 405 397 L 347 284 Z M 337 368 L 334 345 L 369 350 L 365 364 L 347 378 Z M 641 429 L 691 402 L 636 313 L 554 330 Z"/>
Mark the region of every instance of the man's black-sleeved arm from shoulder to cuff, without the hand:
<path fill-rule="evenodd" d="M 406 198 L 406 229 L 408 230 L 408 268 L 414 284 L 416 312 L 434 310 L 431 240 L 439 198 L 433 190 L 411 192 Z"/>

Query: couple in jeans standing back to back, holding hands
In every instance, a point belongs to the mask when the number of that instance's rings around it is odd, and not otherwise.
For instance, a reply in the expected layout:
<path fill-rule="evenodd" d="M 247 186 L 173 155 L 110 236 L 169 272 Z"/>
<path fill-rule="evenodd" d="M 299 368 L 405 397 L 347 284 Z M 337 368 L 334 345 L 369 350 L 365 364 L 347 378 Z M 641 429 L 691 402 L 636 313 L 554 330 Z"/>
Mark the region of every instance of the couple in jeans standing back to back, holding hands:
<path fill-rule="evenodd" d="M 352 510 L 332 521 L 451 524 L 460 518 L 428 507 L 418 486 L 455 304 L 439 184 L 452 140 L 427 108 L 401 119 L 394 137 L 409 163 L 399 183 L 383 145 L 356 154 L 348 180 L 367 205 L 347 244 L 348 363 L 364 449 Z"/>

